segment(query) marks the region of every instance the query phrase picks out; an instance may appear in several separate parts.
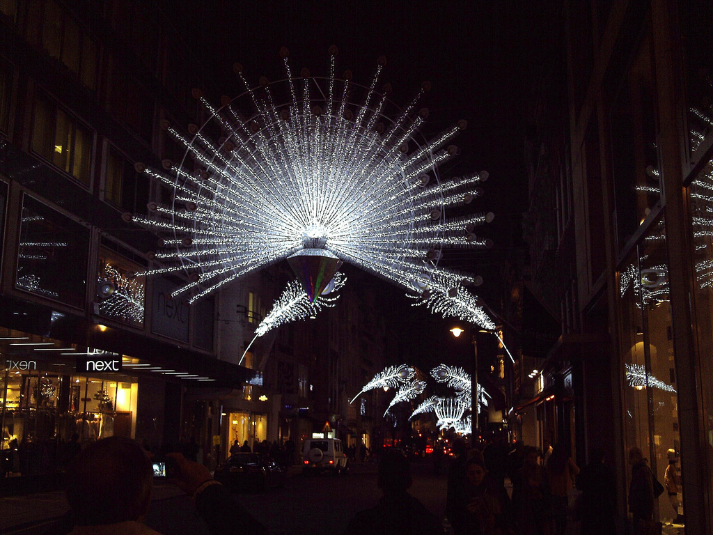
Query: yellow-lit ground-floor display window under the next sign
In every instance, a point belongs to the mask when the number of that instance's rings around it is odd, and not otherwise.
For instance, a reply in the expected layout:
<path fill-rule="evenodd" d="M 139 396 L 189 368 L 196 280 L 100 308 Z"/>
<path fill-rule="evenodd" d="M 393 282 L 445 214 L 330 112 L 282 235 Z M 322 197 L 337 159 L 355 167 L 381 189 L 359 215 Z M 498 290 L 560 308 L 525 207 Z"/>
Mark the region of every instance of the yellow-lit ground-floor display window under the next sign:
<path fill-rule="evenodd" d="M 71 443 L 134 437 L 138 383 L 123 374 L 78 374 L 71 360 L 0 361 L 0 464 L 26 476 L 66 467 Z"/>

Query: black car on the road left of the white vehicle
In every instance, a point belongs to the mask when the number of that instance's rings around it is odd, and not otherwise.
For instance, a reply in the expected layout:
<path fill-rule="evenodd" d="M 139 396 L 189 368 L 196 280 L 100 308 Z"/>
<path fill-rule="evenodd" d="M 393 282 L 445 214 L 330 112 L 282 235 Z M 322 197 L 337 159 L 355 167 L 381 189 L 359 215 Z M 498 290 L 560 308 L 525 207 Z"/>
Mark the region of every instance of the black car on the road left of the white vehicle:
<path fill-rule="evenodd" d="M 284 486 L 285 469 L 263 453 L 236 453 L 215 469 L 213 477 L 233 490 L 264 491 Z"/>

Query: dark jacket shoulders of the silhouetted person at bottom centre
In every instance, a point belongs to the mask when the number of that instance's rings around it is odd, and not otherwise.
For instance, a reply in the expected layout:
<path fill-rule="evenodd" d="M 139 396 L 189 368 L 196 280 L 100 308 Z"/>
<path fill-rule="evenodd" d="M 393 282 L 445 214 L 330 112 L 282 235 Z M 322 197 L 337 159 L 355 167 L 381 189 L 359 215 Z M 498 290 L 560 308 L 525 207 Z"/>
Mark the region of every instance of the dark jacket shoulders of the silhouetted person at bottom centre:
<path fill-rule="evenodd" d="M 385 494 L 371 509 L 359 511 L 343 535 L 443 535 L 438 516 L 408 492 Z"/>

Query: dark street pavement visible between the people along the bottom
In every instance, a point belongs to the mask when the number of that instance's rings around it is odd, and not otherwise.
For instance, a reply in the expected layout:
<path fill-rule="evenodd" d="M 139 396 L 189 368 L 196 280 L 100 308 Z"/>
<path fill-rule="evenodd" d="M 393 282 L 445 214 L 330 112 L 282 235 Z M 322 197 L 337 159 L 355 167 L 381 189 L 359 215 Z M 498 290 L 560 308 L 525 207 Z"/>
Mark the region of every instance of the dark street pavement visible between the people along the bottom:
<path fill-rule="evenodd" d="M 304 477 L 301 467 L 289 470 L 284 489 L 265 493 L 241 493 L 235 499 L 257 517 L 272 535 L 338 535 L 356 511 L 379 500 L 376 463 L 355 463 L 346 476 L 321 474 Z M 443 518 L 446 508 L 446 467 L 436 474 L 428 461 L 414 462 L 414 485 L 409 490 L 434 514 Z M 508 491 L 512 491 L 506 481 Z M 44 492 L 0 499 L 0 534 L 43 535 L 67 509 L 62 491 Z M 237 519 L 236 519 L 237 520 Z M 145 520 L 148 526 L 166 535 L 209 535 L 192 501 L 170 484 L 157 482 Z M 572 522 L 567 535 L 579 534 Z M 624 531 L 620 531 L 624 533 Z M 448 531 L 446 531 L 448 533 Z M 663 535 L 684 535 L 681 526 L 664 526 Z"/>

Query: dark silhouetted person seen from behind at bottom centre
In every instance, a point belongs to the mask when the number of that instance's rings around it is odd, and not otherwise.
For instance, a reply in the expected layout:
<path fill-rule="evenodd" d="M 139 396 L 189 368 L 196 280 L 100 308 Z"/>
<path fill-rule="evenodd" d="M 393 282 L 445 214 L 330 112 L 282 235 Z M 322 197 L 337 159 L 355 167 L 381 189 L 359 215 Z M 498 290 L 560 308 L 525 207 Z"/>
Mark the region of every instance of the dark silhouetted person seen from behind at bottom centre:
<path fill-rule="evenodd" d="M 344 535 L 443 535 L 438 516 L 411 496 L 413 483 L 409 459 L 401 452 L 387 452 L 379 462 L 379 503 L 359 511 L 347 524 Z"/>

